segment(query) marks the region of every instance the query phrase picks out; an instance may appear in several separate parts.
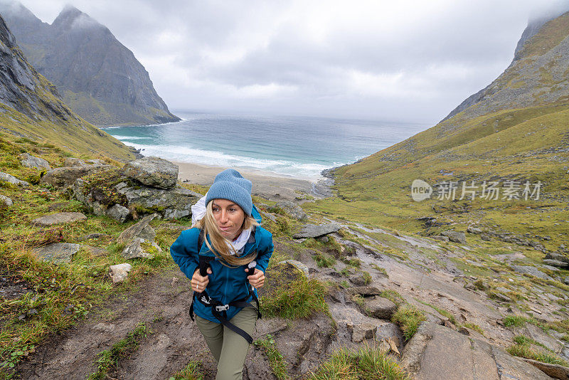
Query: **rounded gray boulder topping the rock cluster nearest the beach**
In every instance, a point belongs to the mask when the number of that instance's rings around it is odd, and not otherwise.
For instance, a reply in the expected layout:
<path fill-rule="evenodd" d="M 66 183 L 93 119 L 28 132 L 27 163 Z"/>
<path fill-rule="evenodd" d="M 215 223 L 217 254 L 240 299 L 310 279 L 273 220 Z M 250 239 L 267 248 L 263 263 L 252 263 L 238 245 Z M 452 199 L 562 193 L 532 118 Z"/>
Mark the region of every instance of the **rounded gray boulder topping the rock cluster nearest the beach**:
<path fill-rule="evenodd" d="M 143 157 L 127 162 L 122 171 L 129 178 L 160 189 L 171 189 L 178 180 L 178 165 L 158 157 Z"/>

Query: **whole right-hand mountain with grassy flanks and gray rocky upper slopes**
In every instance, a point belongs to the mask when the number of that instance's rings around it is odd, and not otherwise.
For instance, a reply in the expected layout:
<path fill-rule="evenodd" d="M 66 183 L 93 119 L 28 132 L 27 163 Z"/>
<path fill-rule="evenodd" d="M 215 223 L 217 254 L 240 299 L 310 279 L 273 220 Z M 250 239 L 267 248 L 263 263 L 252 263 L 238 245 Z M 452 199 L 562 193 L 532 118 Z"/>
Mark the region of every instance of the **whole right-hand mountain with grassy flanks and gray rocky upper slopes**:
<path fill-rule="evenodd" d="M 542 250 L 548 258 L 539 259 L 549 260 L 569 243 L 563 224 L 569 201 L 568 51 L 569 12 L 530 23 L 514 60 L 489 86 L 434 127 L 334 169 L 339 200 L 310 207 L 426 235 L 479 225 L 511 236 L 548 236 Z M 431 187 L 422 201 L 411 196 L 416 179 Z M 490 182 L 501 191 L 492 199 L 484 188 Z M 450 184 L 456 187 L 445 194 L 442 187 Z M 538 199 L 523 195 L 526 185 L 532 191 L 539 186 Z M 517 186 L 514 198 L 507 186 Z"/>

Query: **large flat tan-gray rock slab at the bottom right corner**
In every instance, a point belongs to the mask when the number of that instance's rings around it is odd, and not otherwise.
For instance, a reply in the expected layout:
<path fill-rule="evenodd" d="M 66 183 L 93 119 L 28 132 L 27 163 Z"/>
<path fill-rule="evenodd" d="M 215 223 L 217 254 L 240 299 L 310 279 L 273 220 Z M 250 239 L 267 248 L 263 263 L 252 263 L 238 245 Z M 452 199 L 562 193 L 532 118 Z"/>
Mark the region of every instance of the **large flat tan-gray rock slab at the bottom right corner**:
<path fill-rule="evenodd" d="M 453 329 L 423 322 L 403 350 L 403 369 L 415 379 L 518 379 L 550 377 L 504 349 Z"/>

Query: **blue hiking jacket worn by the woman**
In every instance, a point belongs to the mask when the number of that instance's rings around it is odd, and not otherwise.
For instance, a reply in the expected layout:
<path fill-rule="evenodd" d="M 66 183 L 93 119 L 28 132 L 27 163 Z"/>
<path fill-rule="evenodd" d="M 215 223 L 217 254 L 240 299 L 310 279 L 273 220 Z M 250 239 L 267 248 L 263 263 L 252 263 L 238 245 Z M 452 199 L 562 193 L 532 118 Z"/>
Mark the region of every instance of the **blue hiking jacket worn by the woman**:
<path fill-rule="evenodd" d="M 215 255 L 209 250 L 204 241 L 201 247 L 198 247 L 198 238 L 200 234 L 199 228 L 190 228 L 189 230 L 182 231 L 180 236 L 174 241 L 174 244 L 170 247 L 170 254 L 176 264 L 179 265 L 180 269 L 187 278 L 191 279 L 193 273 L 199 267 L 198 255 L 208 255 L 215 257 Z M 209 235 L 206 236 L 209 242 Z M 243 248 L 243 253 L 239 256 L 245 256 L 251 253 L 253 250 L 257 250 L 257 266 L 255 268 L 262 270 L 263 273 L 267 272 L 267 265 L 269 265 L 269 259 L 272 255 L 272 250 L 274 246 L 272 244 L 272 233 L 265 230 L 260 226 L 256 226 L 255 238 L 249 238 L 249 241 L 245 244 Z M 245 265 L 238 268 L 228 268 L 221 264 L 216 258 L 211 260 L 209 265 L 211 266 L 211 271 L 213 272 L 209 276 L 209 283 L 206 287 L 208 295 L 214 300 L 218 300 L 223 304 L 228 304 L 231 301 L 241 300 L 247 297 L 247 301 L 250 302 L 252 297 L 249 297 L 248 290 L 248 280 L 245 273 Z M 255 289 L 255 294 L 257 290 Z M 238 312 L 240 312 L 241 307 L 230 307 L 227 311 L 227 319 L 230 320 Z M 211 314 L 211 308 L 206 307 L 203 303 L 196 300 L 193 303 L 193 310 L 196 315 L 210 320 L 212 322 L 218 322 L 216 317 Z"/>

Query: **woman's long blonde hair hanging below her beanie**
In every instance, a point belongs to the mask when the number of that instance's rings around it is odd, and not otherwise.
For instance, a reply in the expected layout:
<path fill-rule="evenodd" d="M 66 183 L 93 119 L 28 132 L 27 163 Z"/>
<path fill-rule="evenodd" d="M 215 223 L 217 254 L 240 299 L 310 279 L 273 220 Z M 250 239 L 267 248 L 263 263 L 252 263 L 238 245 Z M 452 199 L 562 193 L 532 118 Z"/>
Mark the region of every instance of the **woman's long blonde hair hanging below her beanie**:
<path fill-rule="evenodd" d="M 241 226 L 240 231 L 252 228 L 254 226 L 259 226 L 259 223 L 257 223 L 257 221 L 255 221 L 255 218 L 252 216 L 245 214 L 245 220 L 243 220 L 243 225 Z M 207 204 L 206 215 L 197 221 L 193 227 L 202 229 L 204 236 L 209 235 L 211 244 L 207 238 L 204 238 L 203 241 L 206 243 L 206 246 L 208 246 L 209 250 L 211 250 L 211 252 L 213 252 L 213 254 L 216 255 L 216 257 L 220 260 L 220 263 L 226 267 L 237 268 L 240 265 L 247 265 L 257 257 L 257 250 L 254 250 L 252 253 L 239 258 L 236 255 L 230 254 L 229 246 L 233 248 L 233 250 L 235 249 L 231 241 L 229 241 L 228 238 L 225 238 L 225 236 L 221 235 L 221 231 L 218 227 L 218 223 L 216 222 L 216 218 L 213 216 L 213 201 L 210 201 Z"/>

